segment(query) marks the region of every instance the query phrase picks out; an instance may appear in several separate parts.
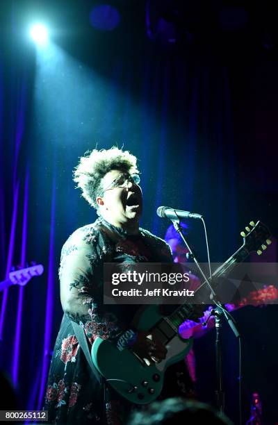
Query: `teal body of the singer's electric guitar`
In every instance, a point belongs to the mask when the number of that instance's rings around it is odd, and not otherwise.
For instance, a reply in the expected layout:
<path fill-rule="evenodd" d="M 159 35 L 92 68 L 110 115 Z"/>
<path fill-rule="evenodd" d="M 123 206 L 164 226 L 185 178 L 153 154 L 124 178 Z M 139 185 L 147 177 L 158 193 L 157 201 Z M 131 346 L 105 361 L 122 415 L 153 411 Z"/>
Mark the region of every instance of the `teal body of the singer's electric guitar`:
<path fill-rule="evenodd" d="M 138 331 L 148 331 L 164 320 L 158 306 L 147 306 L 142 314 L 135 317 L 133 324 Z M 170 325 L 166 328 L 172 331 Z M 115 344 L 101 338 L 92 344 L 92 361 L 99 373 L 122 397 L 132 403 L 150 403 L 161 393 L 167 367 L 182 360 L 193 344 L 191 338 L 183 340 L 174 330 L 173 333 L 174 337 L 165 344 L 167 356 L 160 363 L 147 365 L 131 349 L 119 351 Z"/>

